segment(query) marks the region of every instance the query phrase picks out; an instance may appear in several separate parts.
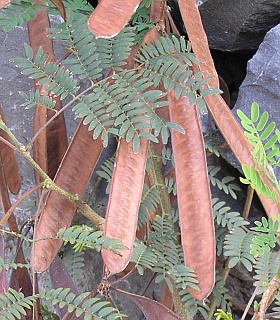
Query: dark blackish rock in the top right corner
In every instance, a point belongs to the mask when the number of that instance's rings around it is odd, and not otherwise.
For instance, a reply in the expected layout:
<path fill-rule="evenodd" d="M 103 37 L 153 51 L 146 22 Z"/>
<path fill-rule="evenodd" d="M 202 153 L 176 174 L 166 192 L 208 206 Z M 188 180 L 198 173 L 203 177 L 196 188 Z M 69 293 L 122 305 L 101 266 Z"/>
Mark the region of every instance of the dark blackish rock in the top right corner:
<path fill-rule="evenodd" d="M 211 0 L 199 10 L 210 48 L 222 51 L 257 49 L 280 22 L 279 0 Z"/>

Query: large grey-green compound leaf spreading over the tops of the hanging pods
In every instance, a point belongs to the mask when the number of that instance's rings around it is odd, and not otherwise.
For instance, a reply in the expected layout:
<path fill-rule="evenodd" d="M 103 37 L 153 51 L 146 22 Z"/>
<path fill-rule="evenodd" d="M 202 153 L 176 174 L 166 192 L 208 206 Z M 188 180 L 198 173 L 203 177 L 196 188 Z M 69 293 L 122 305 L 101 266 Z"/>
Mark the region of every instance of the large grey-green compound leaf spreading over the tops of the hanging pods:
<path fill-rule="evenodd" d="M 193 75 L 190 70 L 184 71 L 186 61 L 189 64 L 196 62 L 185 41 L 162 37 L 155 46 L 150 44 L 141 48 L 136 58 L 141 68 L 125 70 L 134 29 L 127 27 L 113 39 L 95 39 L 89 33 L 86 22 L 87 18 L 82 17 L 50 29 L 50 37 L 67 43 L 73 54 L 63 64 L 48 62 L 48 56 L 41 48 L 34 55 L 28 45 L 25 45 L 27 58 L 15 58 L 14 62 L 23 69 L 23 74 L 40 79 L 39 84 L 46 86 L 45 91 L 49 90 L 55 96 L 61 95 L 61 99 L 70 95 L 73 98 L 71 104 L 76 102 L 73 110 L 84 118 L 84 124 L 89 125 L 94 139 L 101 135 L 104 146 L 108 144 L 109 135 L 113 134 L 128 142 L 133 141 L 134 151 L 138 152 L 140 137 L 157 142 L 157 136 L 161 135 L 163 142 L 167 143 L 171 128 L 183 132 L 177 124 L 165 123 L 157 115 L 156 109 L 166 106 L 168 102 L 161 100 L 165 93 L 155 87 L 163 82 L 165 88 L 172 89 L 179 77 L 176 95 L 182 93 L 192 100 L 196 98 L 196 91 L 205 81 L 201 79 L 201 73 Z M 146 56 L 150 54 L 149 61 Z M 100 80 L 108 68 L 116 72 Z M 77 95 L 78 83 L 74 75 L 88 79 L 92 86 Z M 186 85 L 182 84 L 183 80 L 187 80 Z M 40 97 L 38 93 L 22 93 L 22 96 L 24 105 L 28 107 L 38 102 L 46 103 L 46 107 L 53 106 L 51 99 Z"/>

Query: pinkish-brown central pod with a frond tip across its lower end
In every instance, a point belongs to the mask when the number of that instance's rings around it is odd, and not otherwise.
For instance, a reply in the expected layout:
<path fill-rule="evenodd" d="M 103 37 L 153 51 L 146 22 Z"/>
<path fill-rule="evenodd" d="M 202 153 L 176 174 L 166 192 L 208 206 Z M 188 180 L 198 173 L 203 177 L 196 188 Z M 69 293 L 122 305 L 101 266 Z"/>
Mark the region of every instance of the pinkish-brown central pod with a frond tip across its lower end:
<path fill-rule="evenodd" d="M 121 272 L 129 263 L 137 228 L 138 211 L 145 177 L 149 141 L 141 138 L 139 152 L 133 152 L 132 142 L 120 139 L 111 181 L 104 236 L 119 239 L 127 250 L 121 255 L 102 250 L 109 275 Z"/>

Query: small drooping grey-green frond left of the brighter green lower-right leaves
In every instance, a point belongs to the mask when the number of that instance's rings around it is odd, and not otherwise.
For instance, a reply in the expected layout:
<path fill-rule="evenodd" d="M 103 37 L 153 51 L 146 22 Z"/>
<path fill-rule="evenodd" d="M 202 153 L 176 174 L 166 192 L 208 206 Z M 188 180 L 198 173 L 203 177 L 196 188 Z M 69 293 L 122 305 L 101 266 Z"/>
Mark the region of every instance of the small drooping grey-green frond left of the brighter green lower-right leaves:
<path fill-rule="evenodd" d="M 253 238 L 252 233 L 246 233 L 241 227 L 235 227 L 225 238 L 224 256 L 229 257 L 229 268 L 233 268 L 238 263 L 252 271 L 254 262 L 250 254 L 250 244 Z"/>

